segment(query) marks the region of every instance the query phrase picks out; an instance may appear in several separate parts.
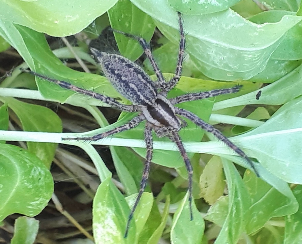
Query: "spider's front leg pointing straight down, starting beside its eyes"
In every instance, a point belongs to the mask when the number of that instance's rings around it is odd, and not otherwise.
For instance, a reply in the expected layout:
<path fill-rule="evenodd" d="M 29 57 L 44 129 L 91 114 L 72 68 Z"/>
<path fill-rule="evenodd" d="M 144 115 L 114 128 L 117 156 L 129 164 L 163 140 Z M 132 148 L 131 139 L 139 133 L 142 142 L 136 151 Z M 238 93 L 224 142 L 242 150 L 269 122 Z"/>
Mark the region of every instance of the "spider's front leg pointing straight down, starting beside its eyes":
<path fill-rule="evenodd" d="M 188 171 L 188 180 L 189 180 L 189 186 L 188 186 L 188 191 L 189 191 L 189 208 L 190 208 L 190 220 L 193 220 L 193 211 L 192 211 L 192 200 L 193 200 L 193 193 L 192 193 L 192 184 L 193 184 L 193 169 L 192 165 L 190 162 L 190 159 L 188 157 L 187 152 L 185 151 L 185 147 L 182 144 L 182 141 L 178 135 L 178 133 L 174 130 L 171 131 L 171 136 L 169 136 L 170 140 L 176 143 L 180 154 L 182 155 L 182 158 L 185 161 L 185 165 Z"/>

